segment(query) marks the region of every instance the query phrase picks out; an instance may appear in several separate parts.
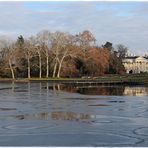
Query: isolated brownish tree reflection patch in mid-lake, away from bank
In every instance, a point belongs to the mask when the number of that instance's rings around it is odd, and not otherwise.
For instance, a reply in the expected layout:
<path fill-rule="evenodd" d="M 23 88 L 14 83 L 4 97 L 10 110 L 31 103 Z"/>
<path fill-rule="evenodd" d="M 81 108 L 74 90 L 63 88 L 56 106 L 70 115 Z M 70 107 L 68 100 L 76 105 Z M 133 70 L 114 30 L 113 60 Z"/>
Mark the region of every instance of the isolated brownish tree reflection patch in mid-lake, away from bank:
<path fill-rule="evenodd" d="M 54 120 L 70 120 L 70 121 L 85 121 L 91 119 L 91 115 L 75 112 L 62 112 L 55 111 L 51 113 L 51 117 Z"/>

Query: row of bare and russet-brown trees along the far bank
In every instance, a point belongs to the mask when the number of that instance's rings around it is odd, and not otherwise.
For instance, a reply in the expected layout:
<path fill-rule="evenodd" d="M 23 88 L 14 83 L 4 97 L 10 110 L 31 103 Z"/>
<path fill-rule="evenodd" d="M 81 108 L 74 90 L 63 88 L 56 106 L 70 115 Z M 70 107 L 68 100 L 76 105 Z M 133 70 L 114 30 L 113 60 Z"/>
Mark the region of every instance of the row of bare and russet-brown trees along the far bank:
<path fill-rule="evenodd" d="M 96 77 L 125 73 L 122 58 L 127 47 L 112 43 L 96 45 L 94 35 L 85 30 L 72 35 L 44 30 L 16 41 L 0 39 L 0 77 Z"/>

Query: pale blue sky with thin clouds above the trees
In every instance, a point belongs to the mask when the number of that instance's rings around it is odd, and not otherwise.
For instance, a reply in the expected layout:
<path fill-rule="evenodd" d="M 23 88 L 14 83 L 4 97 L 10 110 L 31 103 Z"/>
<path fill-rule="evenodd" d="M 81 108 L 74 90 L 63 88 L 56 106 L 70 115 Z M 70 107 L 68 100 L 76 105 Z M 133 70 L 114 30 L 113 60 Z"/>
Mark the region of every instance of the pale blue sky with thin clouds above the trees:
<path fill-rule="evenodd" d="M 109 41 L 148 54 L 147 1 L 0 1 L 0 19 L 1 37 L 89 30 L 98 46 Z"/>

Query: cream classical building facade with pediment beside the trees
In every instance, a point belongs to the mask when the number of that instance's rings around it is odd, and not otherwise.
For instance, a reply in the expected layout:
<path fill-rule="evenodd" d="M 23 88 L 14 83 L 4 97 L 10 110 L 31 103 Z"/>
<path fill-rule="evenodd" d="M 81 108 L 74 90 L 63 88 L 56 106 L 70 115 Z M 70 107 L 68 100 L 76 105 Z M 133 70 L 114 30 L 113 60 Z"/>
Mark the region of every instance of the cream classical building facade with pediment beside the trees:
<path fill-rule="evenodd" d="M 142 56 L 126 57 L 123 59 L 126 73 L 148 72 L 148 58 Z"/>

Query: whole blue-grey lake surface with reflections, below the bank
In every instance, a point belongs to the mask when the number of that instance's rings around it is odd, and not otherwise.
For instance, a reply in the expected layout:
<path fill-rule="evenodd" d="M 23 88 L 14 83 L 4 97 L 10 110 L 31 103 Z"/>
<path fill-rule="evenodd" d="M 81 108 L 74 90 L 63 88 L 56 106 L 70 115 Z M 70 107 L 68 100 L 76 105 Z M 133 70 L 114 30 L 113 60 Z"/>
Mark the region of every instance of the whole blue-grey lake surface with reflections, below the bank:
<path fill-rule="evenodd" d="M 0 146 L 148 146 L 148 87 L 1 83 Z"/>

